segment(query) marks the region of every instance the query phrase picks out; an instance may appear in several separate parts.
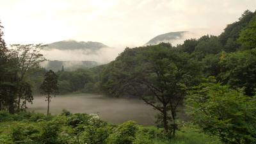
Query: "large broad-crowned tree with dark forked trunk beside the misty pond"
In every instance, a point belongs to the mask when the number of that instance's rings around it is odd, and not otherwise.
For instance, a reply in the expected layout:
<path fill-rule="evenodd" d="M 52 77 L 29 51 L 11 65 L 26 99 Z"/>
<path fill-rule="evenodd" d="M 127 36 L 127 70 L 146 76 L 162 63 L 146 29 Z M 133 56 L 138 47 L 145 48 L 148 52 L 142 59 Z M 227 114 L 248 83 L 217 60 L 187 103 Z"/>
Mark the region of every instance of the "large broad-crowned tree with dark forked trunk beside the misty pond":
<path fill-rule="evenodd" d="M 161 45 L 125 49 L 102 72 L 100 88 L 109 95 L 136 95 L 160 112 L 159 122 L 169 136 L 177 130 L 177 106 L 184 85 L 196 78 L 198 65 L 188 54 Z"/>

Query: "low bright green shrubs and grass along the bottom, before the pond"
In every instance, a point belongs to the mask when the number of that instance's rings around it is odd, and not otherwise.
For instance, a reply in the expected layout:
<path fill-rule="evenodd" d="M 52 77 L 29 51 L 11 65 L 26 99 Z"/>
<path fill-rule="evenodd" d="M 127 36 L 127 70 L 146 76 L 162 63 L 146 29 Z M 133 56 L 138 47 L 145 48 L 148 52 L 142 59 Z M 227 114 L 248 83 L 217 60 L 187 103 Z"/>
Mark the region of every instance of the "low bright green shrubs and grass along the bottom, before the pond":
<path fill-rule="evenodd" d="M 71 114 L 46 116 L 40 113 L 11 115 L 0 112 L 1 144 L 203 144 L 220 143 L 216 138 L 183 127 L 177 137 L 168 140 L 163 129 L 142 127 L 129 121 L 111 125 L 96 115 Z"/>

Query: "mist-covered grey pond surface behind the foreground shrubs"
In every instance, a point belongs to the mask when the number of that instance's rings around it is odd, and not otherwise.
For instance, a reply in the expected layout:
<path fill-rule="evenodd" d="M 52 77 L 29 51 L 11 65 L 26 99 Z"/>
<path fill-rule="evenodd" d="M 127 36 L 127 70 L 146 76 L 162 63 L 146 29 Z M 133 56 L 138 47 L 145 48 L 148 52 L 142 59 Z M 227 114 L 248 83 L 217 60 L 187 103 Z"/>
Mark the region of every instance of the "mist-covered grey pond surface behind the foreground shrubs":
<path fill-rule="evenodd" d="M 34 97 L 29 111 L 47 113 L 47 102 L 44 96 Z M 120 124 L 134 120 L 141 125 L 154 125 L 156 114 L 152 107 L 142 100 L 109 98 L 94 94 L 57 95 L 50 103 L 50 113 L 61 113 L 67 109 L 72 113 L 97 113 L 102 120 Z"/>

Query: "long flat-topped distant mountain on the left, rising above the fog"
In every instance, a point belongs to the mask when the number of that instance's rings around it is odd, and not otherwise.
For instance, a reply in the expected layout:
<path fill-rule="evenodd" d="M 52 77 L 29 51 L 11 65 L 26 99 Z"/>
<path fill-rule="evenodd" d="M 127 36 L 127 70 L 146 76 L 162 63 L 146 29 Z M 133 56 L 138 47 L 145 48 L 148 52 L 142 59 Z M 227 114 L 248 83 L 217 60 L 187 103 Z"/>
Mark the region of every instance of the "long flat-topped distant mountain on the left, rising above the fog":
<path fill-rule="evenodd" d="M 77 42 L 76 40 L 63 40 L 60 42 L 54 42 L 51 44 L 47 44 L 45 50 L 51 49 L 59 49 L 59 50 L 89 50 L 89 51 L 97 51 L 104 47 L 108 47 L 108 45 L 104 45 L 100 42 Z"/>

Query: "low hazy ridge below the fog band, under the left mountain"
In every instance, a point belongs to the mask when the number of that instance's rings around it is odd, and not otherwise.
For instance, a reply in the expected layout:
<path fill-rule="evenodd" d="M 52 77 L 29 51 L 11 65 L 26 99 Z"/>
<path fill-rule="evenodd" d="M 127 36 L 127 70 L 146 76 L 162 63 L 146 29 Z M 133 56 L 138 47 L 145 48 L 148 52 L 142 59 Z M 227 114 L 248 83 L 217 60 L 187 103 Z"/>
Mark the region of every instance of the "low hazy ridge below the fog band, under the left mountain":
<path fill-rule="evenodd" d="M 62 69 L 62 66 L 67 71 L 76 70 L 77 68 L 92 68 L 100 65 L 96 61 L 44 61 L 41 63 L 42 67 L 47 70 L 58 71 Z"/>

